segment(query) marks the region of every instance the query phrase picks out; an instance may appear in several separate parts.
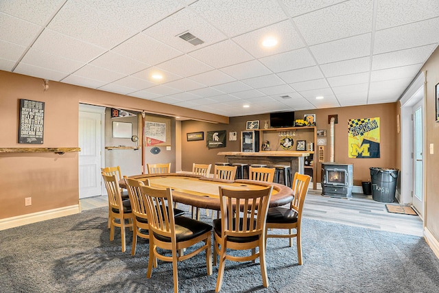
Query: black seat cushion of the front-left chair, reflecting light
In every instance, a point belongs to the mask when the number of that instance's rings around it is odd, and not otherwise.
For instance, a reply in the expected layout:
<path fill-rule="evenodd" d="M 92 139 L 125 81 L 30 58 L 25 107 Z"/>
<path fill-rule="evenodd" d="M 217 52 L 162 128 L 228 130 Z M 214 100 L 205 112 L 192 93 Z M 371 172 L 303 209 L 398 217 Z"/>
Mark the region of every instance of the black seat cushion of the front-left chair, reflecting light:
<path fill-rule="evenodd" d="M 193 239 L 212 230 L 211 225 L 191 218 L 179 216 L 175 218 L 175 221 L 177 242 Z M 171 242 L 171 238 L 163 237 L 157 233 L 154 233 L 154 237 L 163 242 Z"/>

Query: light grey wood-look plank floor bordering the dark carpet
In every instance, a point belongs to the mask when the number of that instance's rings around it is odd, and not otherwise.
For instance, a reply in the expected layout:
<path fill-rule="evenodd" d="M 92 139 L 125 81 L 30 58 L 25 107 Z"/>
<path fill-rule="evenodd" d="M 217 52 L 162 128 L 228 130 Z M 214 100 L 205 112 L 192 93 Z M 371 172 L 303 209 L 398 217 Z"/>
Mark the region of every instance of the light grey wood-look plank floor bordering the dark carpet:
<path fill-rule="evenodd" d="M 372 200 L 372 196 L 353 194 L 353 198 L 348 200 L 322 196 L 321 193 L 321 189 L 309 189 L 303 217 L 382 231 L 423 235 L 423 220 L 418 215 L 389 213 L 385 209 L 385 203 Z M 80 205 L 81 211 L 105 207 L 108 206 L 108 199 L 106 196 L 84 198 L 80 200 Z"/>

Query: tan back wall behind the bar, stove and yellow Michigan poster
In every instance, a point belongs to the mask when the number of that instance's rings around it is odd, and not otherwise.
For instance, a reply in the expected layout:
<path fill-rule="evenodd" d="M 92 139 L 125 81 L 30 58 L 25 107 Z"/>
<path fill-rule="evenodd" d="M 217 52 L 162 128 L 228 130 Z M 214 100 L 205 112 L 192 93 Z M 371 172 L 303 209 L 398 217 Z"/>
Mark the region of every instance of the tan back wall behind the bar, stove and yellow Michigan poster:
<path fill-rule="evenodd" d="M 294 113 L 296 119 L 303 118 L 305 114 L 316 114 L 317 129 L 327 130 L 327 142 L 325 147 L 325 159 L 329 161 L 329 124 L 328 115 L 338 115 L 338 124 L 335 124 L 335 161 L 339 163 L 349 163 L 354 166 L 354 185 L 361 186 L 361 181 L 370 180 L 369 167 L 399 167 L 397 163 L 395 148 L 396 143 L 396 103 L 377 104 L 371 106 L 353 106 L 342 108 L 329 108 L 319 110 L 303 110 Z M 381 134 L 381 157 L 378 159 L 349 159 L 348 158 L 348 119 L 380 117 L 380 134 Z M 230 117 L 230 124 L 206 124 L 199 121 L 182 122 L 182 153 L 185 154 L 182 159 L 182 168 L 190 171 L 192 163 L 212 163 L 224 161 L 224 156 L 218 156 L 217 152 L 222 151 L 239 151 L 240 141 L 239 134 L 246 129 L 246 121 L 259 120 L 260 127 L 263 128 L 265 120 L 270 120 L 270 115 L 254 115 Z M 217 148 L 208 150 L 206 148 L 206 139 L 204 141 L 186 141 L 187 132 L 227 130 L 238 132 L 238 141 L 228 141 L 226 148 Z M 206 133 L 204 133 L 206 135 Z M 298 135 L 298 134 L 297 134 Z M 274 143 L 270 141 L 270 143 Z M 272 145 L 274 149 L 274 145 Z M 316 160 L 314 160 L 315 163 Z M 317 182 L 320 182 L 320 163 L 317 163 Z"/>

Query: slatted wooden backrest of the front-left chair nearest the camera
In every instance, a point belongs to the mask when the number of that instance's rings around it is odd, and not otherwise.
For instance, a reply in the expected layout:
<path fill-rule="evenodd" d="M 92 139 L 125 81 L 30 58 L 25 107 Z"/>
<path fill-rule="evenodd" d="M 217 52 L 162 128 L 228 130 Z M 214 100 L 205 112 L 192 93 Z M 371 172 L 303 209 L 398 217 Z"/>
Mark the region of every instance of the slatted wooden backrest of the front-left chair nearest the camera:
<path fill-rule="evenodd" d="M 169 237 L 171 242 L 175 243 L 174 209 L 167 209 L 168 204 L 169 207 L 174 206 L 171 189 L 169 187 L 162 189 L 150 186 L 142 186 L 140 189 L 147 205 L 147 219 L 150 231 Z"/>

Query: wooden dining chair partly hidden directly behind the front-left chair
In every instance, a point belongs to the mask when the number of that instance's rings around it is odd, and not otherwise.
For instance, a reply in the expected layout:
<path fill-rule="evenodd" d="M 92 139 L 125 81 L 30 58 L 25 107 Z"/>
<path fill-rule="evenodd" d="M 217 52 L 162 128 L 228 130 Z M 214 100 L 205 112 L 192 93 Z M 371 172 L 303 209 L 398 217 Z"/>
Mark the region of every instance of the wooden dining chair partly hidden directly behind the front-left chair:
<path fill-rule="evenodd" d="M 132 247 L 131 255 L 136 254 L 137 237 L 144 239 L 150 239 L 149 228 L 147 219 L 147 207 L 146 201 L 142 196 L 141 187 L 150 186 L 150 180 L 145 181 L 125 178 L 126 187 L 128 189 L 128 195 L 130 196 L 130 203 L 132 213 L 134 215 L 132 222 Z M 180 209 L 174 209 L 174 216 L 184 215 L 185 211 Z"/>

